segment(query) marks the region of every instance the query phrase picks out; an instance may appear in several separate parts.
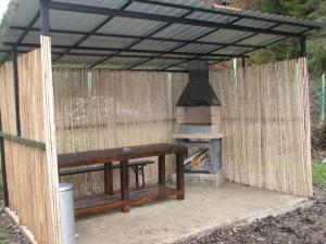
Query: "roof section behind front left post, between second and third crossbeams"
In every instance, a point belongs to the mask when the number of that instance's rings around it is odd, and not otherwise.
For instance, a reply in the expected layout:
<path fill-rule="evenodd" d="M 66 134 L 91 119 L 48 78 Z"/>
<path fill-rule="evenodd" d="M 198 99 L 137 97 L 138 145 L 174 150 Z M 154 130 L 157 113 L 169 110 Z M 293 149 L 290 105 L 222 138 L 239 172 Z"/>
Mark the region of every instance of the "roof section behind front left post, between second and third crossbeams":
<path fill-rule="evenodd" d="M 52 33 L 52 44 L 74 46 L 83 35 Z M 29 31 L 23 40 L 23 43 L 39 44 L 39 31 Z"/>

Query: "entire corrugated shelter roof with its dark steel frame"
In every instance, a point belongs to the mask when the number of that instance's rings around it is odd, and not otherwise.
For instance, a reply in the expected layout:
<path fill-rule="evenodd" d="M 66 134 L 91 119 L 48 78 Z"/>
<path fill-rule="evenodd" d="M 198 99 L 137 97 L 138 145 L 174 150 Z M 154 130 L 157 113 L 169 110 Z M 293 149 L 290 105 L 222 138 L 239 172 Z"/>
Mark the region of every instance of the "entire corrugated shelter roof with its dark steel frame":
<path fill-rule="evenodd" d="M 40 21 L 37 0 L 20 3 L 2 35 L 2 62 L 11 52 L 39 47 L 41 28 L 51 33 L 54 66 L 152 70 L 243 57 L 288 38 L 299 38 L 304 54 L 304 34 L 319 28 L 306 20 L 221 11 L 198 0 L 49 1 L 47 8 L 49 26 Z"/>

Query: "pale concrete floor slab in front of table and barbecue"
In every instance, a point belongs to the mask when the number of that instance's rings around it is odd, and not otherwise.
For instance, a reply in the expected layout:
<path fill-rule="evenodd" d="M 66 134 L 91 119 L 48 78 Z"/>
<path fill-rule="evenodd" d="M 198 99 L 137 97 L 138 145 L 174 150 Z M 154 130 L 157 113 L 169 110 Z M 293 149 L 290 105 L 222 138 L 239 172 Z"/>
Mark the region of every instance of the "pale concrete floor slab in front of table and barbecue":
<path fill-rule="evenodd" d="M 304 197 L 225 183 L 187 187 L 186 200 L 165 200 L 77 219 L 78 244 L 166 244 L 234 222 L 250 222 L 309 205 Z"/>

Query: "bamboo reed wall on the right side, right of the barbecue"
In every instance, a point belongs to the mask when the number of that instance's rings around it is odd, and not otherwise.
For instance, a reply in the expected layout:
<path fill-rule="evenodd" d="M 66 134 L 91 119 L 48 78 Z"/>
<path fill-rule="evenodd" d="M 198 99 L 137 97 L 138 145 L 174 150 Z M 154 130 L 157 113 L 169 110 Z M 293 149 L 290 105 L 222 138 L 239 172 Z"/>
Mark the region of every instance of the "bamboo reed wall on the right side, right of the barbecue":
<path fill-rule="evenodd" d="M 223 169 L 235 182 L 312 196 L 306 61 L 211 72 L 223 108 Z"/>

